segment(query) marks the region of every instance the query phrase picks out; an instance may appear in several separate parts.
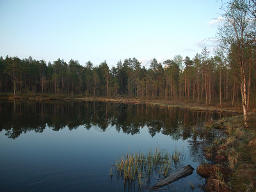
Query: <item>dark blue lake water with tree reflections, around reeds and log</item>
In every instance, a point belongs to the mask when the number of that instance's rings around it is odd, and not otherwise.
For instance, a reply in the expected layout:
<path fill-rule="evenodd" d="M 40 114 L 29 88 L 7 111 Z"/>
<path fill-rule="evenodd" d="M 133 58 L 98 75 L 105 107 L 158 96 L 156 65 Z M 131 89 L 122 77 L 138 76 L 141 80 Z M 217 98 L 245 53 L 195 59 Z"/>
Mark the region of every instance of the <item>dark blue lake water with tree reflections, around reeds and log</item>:
<path fill-rule="evenodd" d="M 196 169 L 205 162 L 202 148 L 221 137 L 202 126 L 224 116 L 144 104 L 0 102 L 0 191 L 138 191 L 115 168 L 109 177 L 121 154 L 178 150 L 182 161 L 173 170 Z M 194 171 L 165 189 L 202 191 L 204 182 Z"/>

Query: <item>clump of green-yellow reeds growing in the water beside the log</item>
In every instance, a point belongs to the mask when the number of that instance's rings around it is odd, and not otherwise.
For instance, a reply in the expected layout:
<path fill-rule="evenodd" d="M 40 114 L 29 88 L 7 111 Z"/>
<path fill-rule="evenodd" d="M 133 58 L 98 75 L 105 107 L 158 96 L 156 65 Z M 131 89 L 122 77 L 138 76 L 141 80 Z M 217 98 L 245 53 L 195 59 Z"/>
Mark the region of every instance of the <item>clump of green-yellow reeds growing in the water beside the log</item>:
<path fill-rule="evenodd" d="M 148 154 L 131 152 L 123 154 L 116 161 L 116 173 L 124 179 L 125 184 L 133 182 L 142 188 L 145 178 L 152 175 L 166 177 L 171 172 L 172 166 L 179 163 L 181 159 L 182 155 L 177 149 L 172 155 L 158 147 L 154 151 L 150 149 Z"/>

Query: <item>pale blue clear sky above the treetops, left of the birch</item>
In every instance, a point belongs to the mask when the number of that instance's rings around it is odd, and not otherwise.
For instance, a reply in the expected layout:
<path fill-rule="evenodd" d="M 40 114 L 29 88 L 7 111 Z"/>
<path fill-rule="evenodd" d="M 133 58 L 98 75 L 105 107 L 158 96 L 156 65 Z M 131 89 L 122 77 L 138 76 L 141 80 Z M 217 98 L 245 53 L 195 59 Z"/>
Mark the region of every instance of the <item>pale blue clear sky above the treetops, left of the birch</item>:
<path fill-rule="evenodd" d="M 0 0 L 0 56 L 109 67 L 214 54 L 220 0 Z"/>

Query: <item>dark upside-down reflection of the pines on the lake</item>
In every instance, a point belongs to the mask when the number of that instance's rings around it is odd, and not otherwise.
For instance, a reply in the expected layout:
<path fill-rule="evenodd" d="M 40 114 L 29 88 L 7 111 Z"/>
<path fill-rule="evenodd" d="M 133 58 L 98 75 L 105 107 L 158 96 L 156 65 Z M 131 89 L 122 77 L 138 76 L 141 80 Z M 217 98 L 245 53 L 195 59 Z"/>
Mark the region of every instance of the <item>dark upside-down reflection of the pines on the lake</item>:
<path fill-rule="evenodd" d="M 147 126 L 152 137 L 161 132 L 174 140 L 192 138 L 192 142 L 196 142 L 196 138 L 207 139 L 205 131 L 196 127 L 228 116 L 227 113 L 108 102 L 0 102 L 0 109 L 0 132 L 5 130 L 6 136 L 12 139 L 28 131 L 43 132 L 46 127 L 60 131 L 83 125 L 99 132 L 115 127 L 118 132 L 133 135 Z"/>

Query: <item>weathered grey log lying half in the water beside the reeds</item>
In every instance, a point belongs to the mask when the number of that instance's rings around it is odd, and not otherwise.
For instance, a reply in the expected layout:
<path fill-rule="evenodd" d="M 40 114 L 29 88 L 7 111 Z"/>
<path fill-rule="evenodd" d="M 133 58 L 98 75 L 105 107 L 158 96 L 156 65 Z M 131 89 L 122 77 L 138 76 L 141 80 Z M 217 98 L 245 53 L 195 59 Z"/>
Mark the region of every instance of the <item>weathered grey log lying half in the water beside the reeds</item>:
<path fill-rule="evenodd" d="M 179 180 L 183 177 L 186 177 L 188 175 L 191 175 L 193 173 L 194 168 L 189 164 L 187 166 L 183 166 L 176 172 L 172 173 L 168 177 L 166 177 L 164 180 L 161 180 L 158 182 L 155 186 L 152 187 L 152 189 L 159 189 L 163 186 L 166 186 L 167 184 L 170 184 L 171 182 L 174 182 L 175 180 Z"/>

